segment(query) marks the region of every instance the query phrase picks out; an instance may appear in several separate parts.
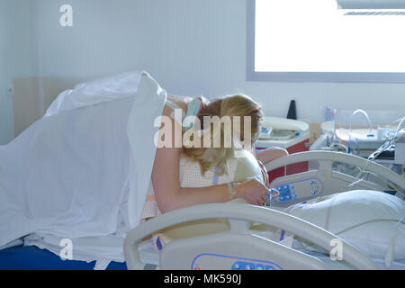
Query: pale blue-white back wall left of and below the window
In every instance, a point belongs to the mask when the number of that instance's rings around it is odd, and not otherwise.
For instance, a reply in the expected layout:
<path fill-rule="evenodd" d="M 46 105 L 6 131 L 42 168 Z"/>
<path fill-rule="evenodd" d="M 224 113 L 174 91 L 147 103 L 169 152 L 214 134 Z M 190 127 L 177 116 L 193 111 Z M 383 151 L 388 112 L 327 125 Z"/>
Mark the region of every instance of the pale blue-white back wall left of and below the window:
<path fill-rule="evenodd" d="M 172 94 L 242 92 L 269 115 L 321 121 L 320 107 L 398 110 L 403 84 L 246 81 L 246 0 L 36 0 L 40 76 L 86 79 L 145 69 Z M 73 6 L 73 27 L 58 24 Z"/>

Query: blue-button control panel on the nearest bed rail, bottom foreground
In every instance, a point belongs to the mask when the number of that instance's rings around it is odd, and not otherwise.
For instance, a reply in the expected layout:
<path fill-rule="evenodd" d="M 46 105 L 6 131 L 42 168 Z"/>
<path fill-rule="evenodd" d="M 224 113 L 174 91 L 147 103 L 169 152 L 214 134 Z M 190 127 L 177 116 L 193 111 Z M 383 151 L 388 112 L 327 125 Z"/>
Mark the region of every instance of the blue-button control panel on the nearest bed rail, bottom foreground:
<path fill-rule="evenodd" d="M 271 261 L 230 257 L 220 254 L 202 253 L 194 257 L 192 270 L 212 269 L 212 266 L 228 266 L 230 270 L 283 270 L 281 266 Z"/>

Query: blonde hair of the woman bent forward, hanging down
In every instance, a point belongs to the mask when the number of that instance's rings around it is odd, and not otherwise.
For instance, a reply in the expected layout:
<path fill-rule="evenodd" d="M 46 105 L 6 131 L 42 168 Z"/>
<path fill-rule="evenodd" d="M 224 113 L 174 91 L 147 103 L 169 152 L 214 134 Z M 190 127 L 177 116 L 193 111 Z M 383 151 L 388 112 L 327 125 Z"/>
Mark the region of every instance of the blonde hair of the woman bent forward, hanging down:
<path fill-rule="evenodd" d="M 201 123 L 200 130 L 207 129 L 207 127 L 203 127 L 203 118 L 206 116 L 218 116 L 220 118 L 222 118 L 223 116 L 229 116 L 231 120 L 233 120 L 233 116 L 239 116 L 241 120 L 239 135 L 237 135 L 237 137 L 233 135 L 231 147 L 226 147 L 226 145 L 224 145 L 225 133 L 222 125 L 220 125 L 220 148 L 204 148 L 203 145 L 200 145 L 200 147 L 191 148 L 183 146 L 184 154 L 188 157 L 191 157 L 194 161 L 199 162 L 202 169 L 202 175 L 204 175 L 206 171 L 214 167 L 218 169 L 219 175 L 223 175 L 224 173 L 228 173 L 229 158 L 234 157 L 236 147 L 235 141 L 237 141 L 238 139 L 245 140 L 245 137 L 249 137 L 251 140 L 250 143 L 253 144 L 257 140 L 259 132 L 261 130 L 261 120 L 263 117 L 263 112 L 261 110 L 261 106 L 245 94 L 225 96 L 219 99 L 214 99 L 212 101 L 208 101 L 207 99 L 202 97 L 202 104 L 202 109 L 198 115 L 198 119 Z M 244 116 L 250 116 L 251 135 L 244 135 Z M 231 121 L 231 125 L 233 125 L 233 121 Z M 202 141 L 204 136 L 207 137 L 206 133 L 202 133 Z M 211 132 L 211 135 L 209 135 L 208 137 L 211 138 L 210 140 L 212 142 L 213 132 Z"/>

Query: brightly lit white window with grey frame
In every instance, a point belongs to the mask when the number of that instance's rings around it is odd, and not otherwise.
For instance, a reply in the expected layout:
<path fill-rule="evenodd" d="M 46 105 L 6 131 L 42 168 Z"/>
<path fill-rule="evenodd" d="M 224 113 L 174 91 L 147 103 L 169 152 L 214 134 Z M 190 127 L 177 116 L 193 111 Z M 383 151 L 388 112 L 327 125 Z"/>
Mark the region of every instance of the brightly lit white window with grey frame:
<path fill-rule="evenodd" d="M 405 82 L 405 10 L 343 10 L 336 0 L 252 0 L 247 78 Z"/>

